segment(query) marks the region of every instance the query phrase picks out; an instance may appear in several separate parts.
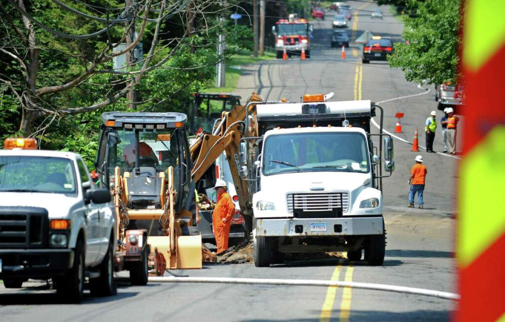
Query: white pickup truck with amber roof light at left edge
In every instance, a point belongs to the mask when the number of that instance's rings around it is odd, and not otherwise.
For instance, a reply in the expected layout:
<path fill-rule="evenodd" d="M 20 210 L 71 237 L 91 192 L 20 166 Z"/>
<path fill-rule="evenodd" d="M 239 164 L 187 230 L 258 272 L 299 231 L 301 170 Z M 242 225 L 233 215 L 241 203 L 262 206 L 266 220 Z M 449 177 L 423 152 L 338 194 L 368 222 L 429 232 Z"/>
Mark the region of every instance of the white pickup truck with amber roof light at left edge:
<path fill-rule="evenodd" d="M 81 300 L 86 277 L 92 295 L 114 294 L 109 190 L 78 154 L 23 149 L 33 142 L 7 139 L 0 150 L 0 279 L 7 288 L 52 279 L 67 302 Z"/>

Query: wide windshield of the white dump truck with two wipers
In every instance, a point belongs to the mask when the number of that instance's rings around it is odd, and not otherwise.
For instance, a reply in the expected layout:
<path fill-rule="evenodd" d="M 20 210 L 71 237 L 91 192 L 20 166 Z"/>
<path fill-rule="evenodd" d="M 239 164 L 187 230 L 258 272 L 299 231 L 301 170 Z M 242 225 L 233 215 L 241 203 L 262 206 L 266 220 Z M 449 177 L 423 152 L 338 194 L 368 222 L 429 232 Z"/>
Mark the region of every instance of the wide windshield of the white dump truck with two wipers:
<path fill-rule="evenodd" d="M 273 135 L 263 147 L 263 174 L 369 171 L 367 143 L 360 133 Z"/>

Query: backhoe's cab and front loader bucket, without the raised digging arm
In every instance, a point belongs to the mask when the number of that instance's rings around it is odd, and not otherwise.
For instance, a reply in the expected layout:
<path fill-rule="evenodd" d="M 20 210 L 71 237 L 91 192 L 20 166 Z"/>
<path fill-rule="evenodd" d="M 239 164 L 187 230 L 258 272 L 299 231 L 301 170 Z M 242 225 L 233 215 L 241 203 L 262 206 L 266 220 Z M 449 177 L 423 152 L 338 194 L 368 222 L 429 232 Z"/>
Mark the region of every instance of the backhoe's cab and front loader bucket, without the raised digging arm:
<path fill-rule="evenodd" d="M 212 261 L 193 227 L 196 204 L 186 115 L 107 112 L 102 121 L 95 166 L 113 191 L 118 251 L 126 253 L 130 276 L 135 261 L 144 273 L 150 266 L 158 275 L 165 268 L 201 268 L 203 258 Z"/>

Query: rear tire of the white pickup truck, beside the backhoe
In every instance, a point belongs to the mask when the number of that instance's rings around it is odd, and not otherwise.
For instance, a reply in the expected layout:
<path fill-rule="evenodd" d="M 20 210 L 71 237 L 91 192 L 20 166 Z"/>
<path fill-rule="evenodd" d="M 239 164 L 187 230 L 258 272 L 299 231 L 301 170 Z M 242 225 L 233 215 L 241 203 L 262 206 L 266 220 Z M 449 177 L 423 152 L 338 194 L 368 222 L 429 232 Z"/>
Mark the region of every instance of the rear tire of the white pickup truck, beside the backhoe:
<path fill-rule="evenodd" d="M 98 266 L 100 277 L 89 280 L 89 291 L 92 296 L 111 296 L 117 293 L 114 283 L 114 239 L 111 236 L 109 249 L 104 260 Z"/>

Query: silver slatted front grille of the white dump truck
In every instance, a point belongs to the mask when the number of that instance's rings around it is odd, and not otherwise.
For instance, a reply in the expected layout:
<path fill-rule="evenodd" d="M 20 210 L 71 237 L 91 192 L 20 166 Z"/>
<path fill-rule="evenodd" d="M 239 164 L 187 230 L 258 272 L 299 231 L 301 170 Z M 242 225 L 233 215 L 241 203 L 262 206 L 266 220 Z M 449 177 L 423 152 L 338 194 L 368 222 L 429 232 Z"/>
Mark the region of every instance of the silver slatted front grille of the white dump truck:
<path fill-rule="evenodd" d="M 349 205 L 349 194 L 338 192 L 335 194 L 289 194 L 286 196 L 287 210 L 290 214 L 294 209 L 304 212 L 333 211 L 340 208 L 342 212 L 347 211 Z"/>

